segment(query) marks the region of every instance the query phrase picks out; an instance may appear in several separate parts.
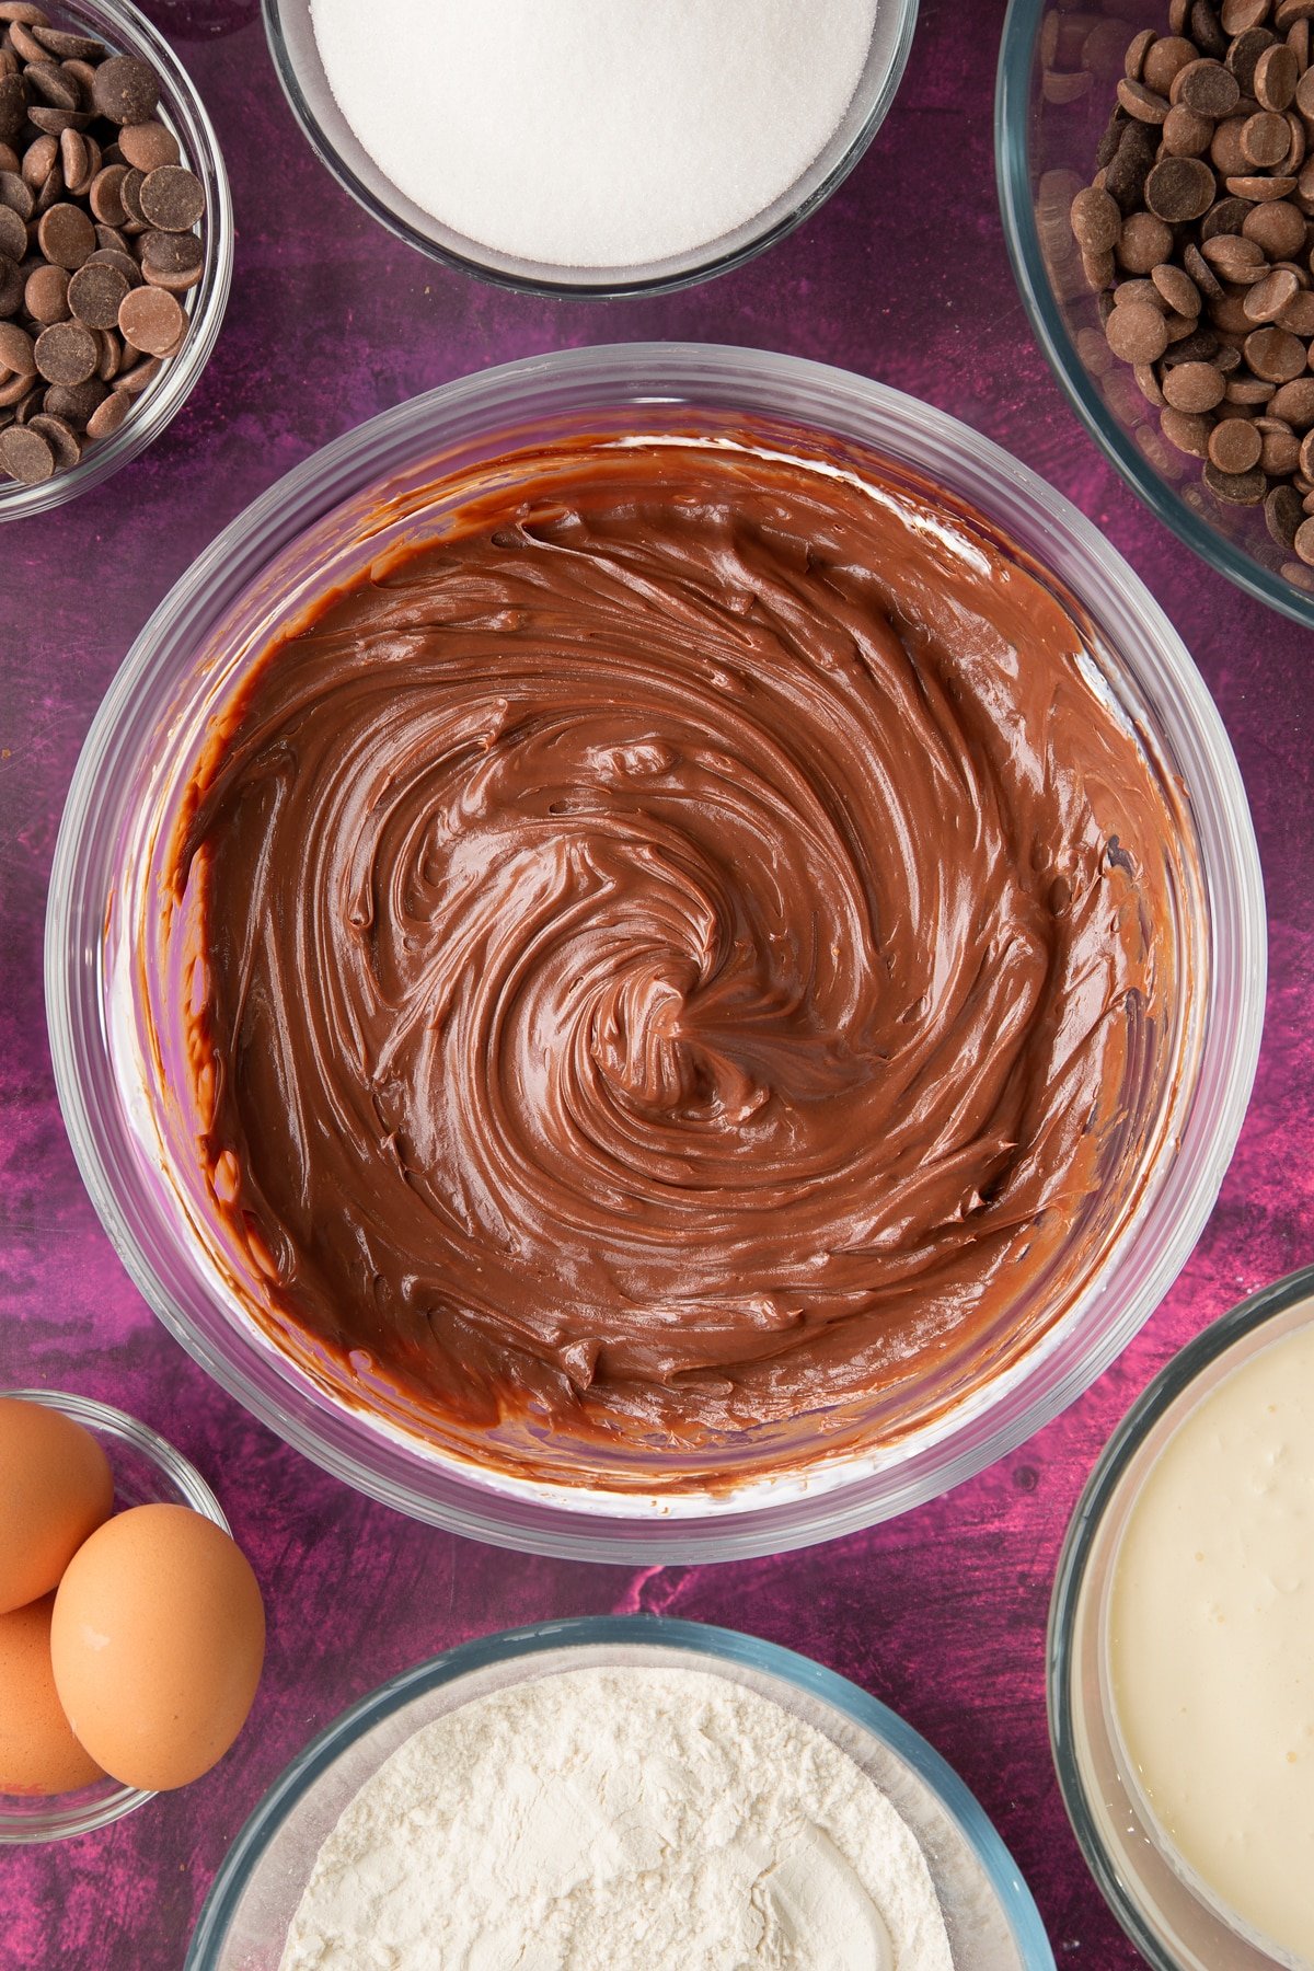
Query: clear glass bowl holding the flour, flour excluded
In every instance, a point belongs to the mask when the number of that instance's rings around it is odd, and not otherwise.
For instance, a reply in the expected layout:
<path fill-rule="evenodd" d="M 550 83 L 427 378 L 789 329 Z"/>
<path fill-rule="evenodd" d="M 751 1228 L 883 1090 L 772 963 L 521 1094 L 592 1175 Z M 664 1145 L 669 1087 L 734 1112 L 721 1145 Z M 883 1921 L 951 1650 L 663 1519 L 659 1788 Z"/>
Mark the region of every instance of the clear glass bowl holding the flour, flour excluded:
<path fill-rule="evenodd" d="M 902 1813 L 944 1908 L 953 1963 L 1054 1971 L 1013 1857 L 957 1774 L 847 1677 L 756 1636 L 662 1616 L 587 1616 L 510 1628 L 392 1677 L 345 1711 L 274 1782 L 201 1910 L 185 1971 L 274 1967 L 325 1835 L 422 1727 L 508 1683 L 561 1669 L 658 1665 L 743 1683 L 825 1733 Z"/>

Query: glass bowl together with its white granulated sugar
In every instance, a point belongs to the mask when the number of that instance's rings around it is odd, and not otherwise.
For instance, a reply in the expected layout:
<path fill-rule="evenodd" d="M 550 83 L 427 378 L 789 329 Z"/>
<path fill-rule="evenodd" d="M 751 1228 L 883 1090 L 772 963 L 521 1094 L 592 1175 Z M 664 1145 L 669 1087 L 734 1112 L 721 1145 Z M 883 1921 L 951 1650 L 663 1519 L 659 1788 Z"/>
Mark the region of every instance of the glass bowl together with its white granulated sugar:
<path fill-rule="evenodd" d="M 305 136 L 412 246 L 510 288 L 682 288 L 853 170 L 918 0 L 264 0 Z"/>

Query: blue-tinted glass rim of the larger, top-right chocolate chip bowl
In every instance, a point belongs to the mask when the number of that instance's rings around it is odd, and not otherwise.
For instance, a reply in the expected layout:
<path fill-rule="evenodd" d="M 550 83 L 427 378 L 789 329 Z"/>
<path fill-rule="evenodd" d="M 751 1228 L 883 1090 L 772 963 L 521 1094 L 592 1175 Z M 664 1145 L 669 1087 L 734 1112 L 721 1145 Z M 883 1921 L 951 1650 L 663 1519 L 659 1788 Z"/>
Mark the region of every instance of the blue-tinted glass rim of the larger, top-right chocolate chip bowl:
<path fill-rule="evenodd" d="M 1304 629 L 1314 629 L 1314 593 L 1304 593 L 1282 581 L 1235 542 L 1202 520 L 1174 493 L 1150 461 L 1131 443 L 1123 428 L 1105 408 L 1085 365 L 1082 363 L 1062 311 L 1054 300 L 1040 233 L 1030 195 L 1030 77 L 1040 22 L 1048 0 L 1009 0 L 999 69 L 995 79 L 995 177 L 1003 217 L 1005 244 L 1032 335 L 1058 378 L 1068 404 L 1085 432 L 1095 440 L 1109 463 L 1150 509 L 1156 520 L 1215 568 L 1247 595 L 1290 617 Z"/>

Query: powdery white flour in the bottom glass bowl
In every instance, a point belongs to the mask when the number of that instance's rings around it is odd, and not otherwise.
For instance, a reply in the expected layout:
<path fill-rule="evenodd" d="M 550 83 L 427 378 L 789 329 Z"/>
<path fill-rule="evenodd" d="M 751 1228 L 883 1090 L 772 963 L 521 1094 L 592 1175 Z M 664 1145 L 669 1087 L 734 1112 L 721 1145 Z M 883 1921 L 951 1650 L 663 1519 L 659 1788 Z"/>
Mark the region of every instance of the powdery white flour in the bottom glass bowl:
<path fill-rule="evenodd" d="M 912 1833 L 812 1725 L 571 1669 L 426 1725 L 315 1861 L 282 1971 L 953 1971 Z"/>

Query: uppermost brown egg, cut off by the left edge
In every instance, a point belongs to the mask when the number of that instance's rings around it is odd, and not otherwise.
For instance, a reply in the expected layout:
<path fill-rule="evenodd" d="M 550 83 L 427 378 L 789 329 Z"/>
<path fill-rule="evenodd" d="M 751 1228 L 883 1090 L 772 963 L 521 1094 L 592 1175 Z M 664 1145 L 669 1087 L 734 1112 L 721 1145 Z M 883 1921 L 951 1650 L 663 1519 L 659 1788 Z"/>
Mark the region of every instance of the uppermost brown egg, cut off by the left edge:
<path fill-rule="evenodd" d="M 49 1595 L 112 1504 L 108 1459 L 91 1431 L 41 1403 L 0 1397 L 0 1612 Z"/>

